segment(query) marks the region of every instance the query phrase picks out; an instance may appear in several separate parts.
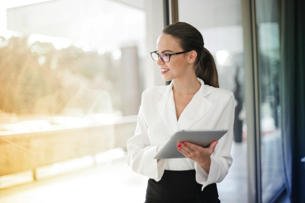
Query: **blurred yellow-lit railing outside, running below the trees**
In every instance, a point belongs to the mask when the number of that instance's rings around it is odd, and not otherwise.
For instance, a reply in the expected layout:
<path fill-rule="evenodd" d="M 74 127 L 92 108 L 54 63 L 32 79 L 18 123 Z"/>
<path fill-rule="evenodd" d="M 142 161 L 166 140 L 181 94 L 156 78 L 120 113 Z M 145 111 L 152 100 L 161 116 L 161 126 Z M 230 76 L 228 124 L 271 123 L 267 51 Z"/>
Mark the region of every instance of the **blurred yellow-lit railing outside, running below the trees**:
<path fill-rule="evenodd" d="M 0 176 L 121 147 L 134 135 L 137 115 L 99 124 L 0 135 Z"/>

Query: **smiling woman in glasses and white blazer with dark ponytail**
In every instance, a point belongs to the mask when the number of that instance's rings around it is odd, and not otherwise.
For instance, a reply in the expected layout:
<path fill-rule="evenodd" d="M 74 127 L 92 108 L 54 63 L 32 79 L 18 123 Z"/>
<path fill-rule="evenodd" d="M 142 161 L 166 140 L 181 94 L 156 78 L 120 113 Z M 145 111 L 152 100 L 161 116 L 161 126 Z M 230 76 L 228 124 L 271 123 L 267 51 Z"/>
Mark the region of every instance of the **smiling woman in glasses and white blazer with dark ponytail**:
<path fill-rule="evenodd" d="M 143 91 L 135 135 L 127 141 L 127 164 L 149 177 L 145 202 L 220 202 L 217 185 L 232 164 L 235 99 L 219 88 L 213 56 L 201 33 L 188 23 L 164 28 L 151 52 L 167 86 Z M 185 142 L 186 158 L 153 159 L 169 137 L 182 129 L 227 129 L 208 148 Z"/>

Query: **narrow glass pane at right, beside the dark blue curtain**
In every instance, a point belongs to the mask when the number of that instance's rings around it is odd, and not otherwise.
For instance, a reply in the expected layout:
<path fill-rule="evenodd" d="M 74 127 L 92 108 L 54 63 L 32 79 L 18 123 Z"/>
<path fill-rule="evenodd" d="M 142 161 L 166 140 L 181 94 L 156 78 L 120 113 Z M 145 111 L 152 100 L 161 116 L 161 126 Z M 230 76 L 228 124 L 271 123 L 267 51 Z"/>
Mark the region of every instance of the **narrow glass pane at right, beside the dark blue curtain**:
<path fill-rule="evenodd" d="M 284 185 L 278 1 L 256 2 L 260 93 L 260 161 L 262 202 L 269 202 Z"/>

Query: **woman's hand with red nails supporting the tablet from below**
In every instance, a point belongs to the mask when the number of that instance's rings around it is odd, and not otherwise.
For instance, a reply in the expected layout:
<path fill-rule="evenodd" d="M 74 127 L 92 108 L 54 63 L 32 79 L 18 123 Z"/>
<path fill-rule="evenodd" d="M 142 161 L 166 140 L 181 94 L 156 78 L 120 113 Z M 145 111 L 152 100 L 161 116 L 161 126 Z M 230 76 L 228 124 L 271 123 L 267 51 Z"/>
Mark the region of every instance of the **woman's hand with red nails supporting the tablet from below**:
<path fill-rule="evenodd" d="M 192 159 L 197 162 L 197 164 L 206 171 L 206 173 L 210 172 L 211 166 L 211 154 L 214 152 L 215 146 L 217 145 L 217 141 L 214 141 L 210 144 L 208 148 L 204 148 L 202 146 L 184 142 L 178 143 L 178 150 L 187 158 Z"/>

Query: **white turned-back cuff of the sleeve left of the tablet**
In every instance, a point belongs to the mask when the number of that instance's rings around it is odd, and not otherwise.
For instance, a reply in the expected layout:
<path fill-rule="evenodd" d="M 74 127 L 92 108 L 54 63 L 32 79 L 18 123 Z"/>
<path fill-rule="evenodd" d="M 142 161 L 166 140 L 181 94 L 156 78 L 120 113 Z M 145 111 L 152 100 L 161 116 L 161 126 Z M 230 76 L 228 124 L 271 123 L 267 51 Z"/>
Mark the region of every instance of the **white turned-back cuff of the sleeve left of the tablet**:
<path fill-rule="evenodd" d="M 143 152 L 142 163 L 143 171 L 149 178 L 159 181 L 164 173 L 166 159 L 154 159 L 158 146 L 147 146 Z"/>

